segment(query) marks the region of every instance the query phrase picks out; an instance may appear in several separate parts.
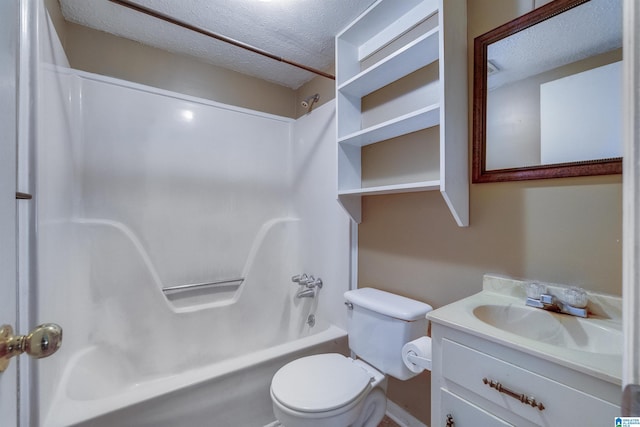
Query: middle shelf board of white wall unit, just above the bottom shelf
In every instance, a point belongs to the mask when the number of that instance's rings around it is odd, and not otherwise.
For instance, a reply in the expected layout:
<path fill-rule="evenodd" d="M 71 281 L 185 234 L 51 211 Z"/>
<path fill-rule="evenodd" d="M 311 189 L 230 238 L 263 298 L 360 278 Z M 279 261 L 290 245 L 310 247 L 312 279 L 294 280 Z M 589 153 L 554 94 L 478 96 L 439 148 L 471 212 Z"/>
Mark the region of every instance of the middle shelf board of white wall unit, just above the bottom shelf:
<path fill-rule="evenodd" d="M 375 144 L 400 135 L 437 126 L 439 123 L 440 104 L 433 104 L 338 138 L 338 143 L 364 147 L 365 145 Z"/>

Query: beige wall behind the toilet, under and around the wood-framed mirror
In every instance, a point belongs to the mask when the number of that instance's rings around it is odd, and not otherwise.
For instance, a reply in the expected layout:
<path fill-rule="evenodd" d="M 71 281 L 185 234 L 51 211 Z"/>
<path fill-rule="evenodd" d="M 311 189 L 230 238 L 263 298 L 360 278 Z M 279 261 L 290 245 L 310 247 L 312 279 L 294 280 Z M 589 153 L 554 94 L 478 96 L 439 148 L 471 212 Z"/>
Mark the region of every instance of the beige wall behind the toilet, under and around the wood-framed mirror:
<path fill-rule="evenodd" d="M 469 94 L 473 39 L 528 12 L 531 0 L 468 0 Z M 537 2 L 541 3 L 541 2 Z M 469 112 L 472 101 L 469 98 Z M 469 115 L 469 129 L 471 129 Z M 469 139 L 469 141 L 471 141 Z M 471 142 L 469 142 L 471 153 Z M 481 290 L 487 272 L 621 294 L 620 175 L 473 184 L 468 228 L 438 192 L 365 198 L 359 286 L 434 307 Z M 430 375 L 390 380 L 389 397 L 430 425 Z"/>

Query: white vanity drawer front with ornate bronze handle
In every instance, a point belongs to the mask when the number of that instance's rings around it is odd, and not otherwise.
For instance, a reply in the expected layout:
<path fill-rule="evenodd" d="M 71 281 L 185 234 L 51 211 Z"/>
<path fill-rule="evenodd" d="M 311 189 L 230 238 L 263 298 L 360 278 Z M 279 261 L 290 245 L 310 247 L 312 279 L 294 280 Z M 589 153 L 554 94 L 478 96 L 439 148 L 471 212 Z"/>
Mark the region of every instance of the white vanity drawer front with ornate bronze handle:
<path fill-rule="evenodd" d="M 454 341 L 442 340 L 442 354 L 445 384 L 452 381 L 535 424 L 610 425 L 620 415 L 612 403 Z M 491 387 L 492 382 L 502 391 Z M 543 409 L 518 400 L 521 395 Z"/>

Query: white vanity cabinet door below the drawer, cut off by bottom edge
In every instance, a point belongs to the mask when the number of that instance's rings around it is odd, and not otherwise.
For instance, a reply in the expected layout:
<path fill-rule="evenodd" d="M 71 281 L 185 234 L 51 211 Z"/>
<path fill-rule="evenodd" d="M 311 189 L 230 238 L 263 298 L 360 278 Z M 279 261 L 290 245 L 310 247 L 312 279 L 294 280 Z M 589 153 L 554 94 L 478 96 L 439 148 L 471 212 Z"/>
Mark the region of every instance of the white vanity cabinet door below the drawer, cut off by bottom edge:
<path fill-rule="evenodd" d="M 440 411 L 442 419 L 437 426 L 433 427 L 513 426 L 445 389 L 440 389 L 440 392 L 442 393 Z"/>

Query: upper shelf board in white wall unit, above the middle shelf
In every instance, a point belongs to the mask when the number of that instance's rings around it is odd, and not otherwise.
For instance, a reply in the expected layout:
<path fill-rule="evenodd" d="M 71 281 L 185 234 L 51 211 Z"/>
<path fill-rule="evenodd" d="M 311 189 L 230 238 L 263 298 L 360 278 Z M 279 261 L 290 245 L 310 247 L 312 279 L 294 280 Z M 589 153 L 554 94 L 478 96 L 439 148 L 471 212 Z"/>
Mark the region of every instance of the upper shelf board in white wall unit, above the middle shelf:
<path fill-rule="evenodd" d="M 439 28 L 372 65 L 338 86 L 338 91 L 361 98 L 438 60 Z"/>

